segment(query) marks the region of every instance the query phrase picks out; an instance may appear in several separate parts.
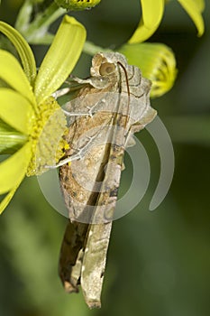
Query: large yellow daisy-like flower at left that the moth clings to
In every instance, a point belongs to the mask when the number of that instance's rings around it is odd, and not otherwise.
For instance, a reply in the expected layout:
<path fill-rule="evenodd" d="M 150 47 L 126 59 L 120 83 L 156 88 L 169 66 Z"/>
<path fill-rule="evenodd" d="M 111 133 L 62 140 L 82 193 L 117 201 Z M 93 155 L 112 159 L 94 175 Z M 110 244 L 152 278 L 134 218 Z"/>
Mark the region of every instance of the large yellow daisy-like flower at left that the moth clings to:
<path fill-rule="evenodd" d="M 38 74 L 32 50 L 22 35 L 4 22 L 0 22 L 0 31 L 13 42 L 23 64 L 22 68 L 12 54 L 0 50 L 0 133 L 5 131 L 7 140 L 11 139 L 6 134 L 6 126 L 11 126 L 23 140 L 21 149 L 0 163 L 0 194 L 5 194 L 2 213 L 26 174 L 43 172 L 46 164 L 55 161 L 66 119 L 51 95 L 78 61 L 86 30 L 66 15 Z"/>

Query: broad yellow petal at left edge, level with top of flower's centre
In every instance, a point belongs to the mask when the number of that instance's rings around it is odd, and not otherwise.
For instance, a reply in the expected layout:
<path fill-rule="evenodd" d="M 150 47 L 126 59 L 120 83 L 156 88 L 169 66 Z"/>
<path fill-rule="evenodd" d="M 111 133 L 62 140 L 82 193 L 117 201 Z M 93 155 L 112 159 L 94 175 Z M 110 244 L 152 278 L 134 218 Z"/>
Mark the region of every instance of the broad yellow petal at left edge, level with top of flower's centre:
<path fill-rule="evenodd" d="M 32 128 L 32 106 L 11 88 L 0 88 L 0 118 L 17 131 L 27 135 Z"/>

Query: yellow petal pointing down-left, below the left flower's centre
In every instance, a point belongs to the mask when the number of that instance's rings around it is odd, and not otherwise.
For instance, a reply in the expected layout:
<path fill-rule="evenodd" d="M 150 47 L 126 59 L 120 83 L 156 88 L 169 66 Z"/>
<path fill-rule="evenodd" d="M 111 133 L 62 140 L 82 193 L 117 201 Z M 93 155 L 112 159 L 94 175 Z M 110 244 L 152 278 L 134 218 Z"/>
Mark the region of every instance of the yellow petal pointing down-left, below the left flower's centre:
<path fill-rule="evenodd" d="M 0 163 L 0 194 L 14 190 L 23 180 L 30 159 L 31 144 L 27 143 L 17 153 Z"/>

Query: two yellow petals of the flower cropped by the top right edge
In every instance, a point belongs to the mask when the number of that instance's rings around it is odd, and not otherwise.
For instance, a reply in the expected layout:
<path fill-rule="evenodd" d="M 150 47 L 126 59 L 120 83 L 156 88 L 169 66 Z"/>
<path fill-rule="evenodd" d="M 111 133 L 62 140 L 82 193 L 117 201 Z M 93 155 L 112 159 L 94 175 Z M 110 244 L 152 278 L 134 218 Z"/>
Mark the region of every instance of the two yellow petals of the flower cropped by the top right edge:
<path fill-rule="evenodd" d="M 196 24 L 197 35 L 204 33 L 205 26 L 202 12 L 205 9 L 204 0 L 178 0 Z M 141 0 L 142 19 L 132 34 L 130 43 L 144 42 L 151 37 L 160 25 L 164 13 L 165 0 Z"/>

